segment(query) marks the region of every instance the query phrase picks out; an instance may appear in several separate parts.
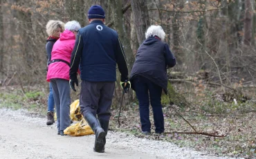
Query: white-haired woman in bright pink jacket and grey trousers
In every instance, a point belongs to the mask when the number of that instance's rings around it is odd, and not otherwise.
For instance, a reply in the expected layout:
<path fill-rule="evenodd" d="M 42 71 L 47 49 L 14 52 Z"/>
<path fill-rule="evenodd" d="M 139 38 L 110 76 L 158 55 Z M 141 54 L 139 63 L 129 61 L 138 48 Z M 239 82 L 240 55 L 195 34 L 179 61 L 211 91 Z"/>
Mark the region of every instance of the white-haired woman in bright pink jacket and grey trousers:
<path fill-rule="evenodd" d="M 70 87 L 69 87 L 69 64 L 71 53 L 75 46 L 75 37 L 81 26 L 77 21 L 68 21 L 65 30 L 60 34 L 51 53 L 49 62 L 47 81 L 53 87 L 53 97 L 55 100 L 57 113 L 58 135 L 64 135 L 64 129 L 70 126 Z"/>

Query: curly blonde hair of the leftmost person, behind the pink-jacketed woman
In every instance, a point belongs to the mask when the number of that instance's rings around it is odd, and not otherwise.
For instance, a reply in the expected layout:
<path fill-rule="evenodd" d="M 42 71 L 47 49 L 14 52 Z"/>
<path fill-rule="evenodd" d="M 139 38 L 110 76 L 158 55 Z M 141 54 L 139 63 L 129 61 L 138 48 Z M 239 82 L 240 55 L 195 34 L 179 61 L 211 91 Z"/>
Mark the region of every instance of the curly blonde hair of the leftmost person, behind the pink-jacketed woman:
<path fill-rule="evenodd" d="M 49 20 L 46 24 L 46 32 L 48 36 L 53 36 L 58 28 L 64 31 L 64 23 L 62 21 Z"/>

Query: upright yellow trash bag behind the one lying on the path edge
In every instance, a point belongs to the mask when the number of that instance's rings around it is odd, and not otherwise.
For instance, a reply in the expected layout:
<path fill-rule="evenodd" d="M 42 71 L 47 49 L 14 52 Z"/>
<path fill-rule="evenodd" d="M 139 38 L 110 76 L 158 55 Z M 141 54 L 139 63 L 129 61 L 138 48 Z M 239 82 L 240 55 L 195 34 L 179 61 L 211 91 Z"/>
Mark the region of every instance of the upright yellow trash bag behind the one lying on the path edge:
<path fill-rule="evenodd" d="M 70 118 L 73 121 L 81 121 L 83 116 L 80 113 L 80 106 L 79 106 L 79 100 L 75 100 L 71 105 L 70 105 Z M 57 120 L 57 115 L 56 112 L 54 114 L 54 120 Z"/>

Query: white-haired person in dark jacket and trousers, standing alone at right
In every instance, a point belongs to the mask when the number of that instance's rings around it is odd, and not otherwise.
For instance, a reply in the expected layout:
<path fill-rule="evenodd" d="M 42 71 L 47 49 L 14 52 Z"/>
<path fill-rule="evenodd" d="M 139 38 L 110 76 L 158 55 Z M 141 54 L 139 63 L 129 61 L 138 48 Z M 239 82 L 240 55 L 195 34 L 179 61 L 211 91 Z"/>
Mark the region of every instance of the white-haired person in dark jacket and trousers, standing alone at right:
<path fill-rule="evenodd" d="M 162 89 L 167 93 L 167 68 L 175 66 L 176 59 L 164 42 L 165 32 L 161 26 L 150 26 L 145 35 L 146 40 L 137 50 L 130 81 L 139 102 L 141 129 L 147 135 L 151 131 L 149 100 L 155 132 L 164 131 L 161 94 Z"/>

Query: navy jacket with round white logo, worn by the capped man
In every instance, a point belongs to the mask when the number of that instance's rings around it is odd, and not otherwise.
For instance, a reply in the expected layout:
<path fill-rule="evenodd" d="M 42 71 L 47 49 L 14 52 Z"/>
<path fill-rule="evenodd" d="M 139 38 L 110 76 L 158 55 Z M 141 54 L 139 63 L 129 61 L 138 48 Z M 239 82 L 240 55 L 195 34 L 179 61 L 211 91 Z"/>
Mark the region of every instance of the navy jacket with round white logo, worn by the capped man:
<path fill-rule="evenodd" d="M 115 82 L 116 64 L 121 73 L 121 81 L 128 79 L 125 53 L 118 38 L 118 33 L 95 20 L 80 28 L 75 39 L 71 56 L 71 79 L 76 78 L 78 67 L 80 77 L 88 82 Z"/>

